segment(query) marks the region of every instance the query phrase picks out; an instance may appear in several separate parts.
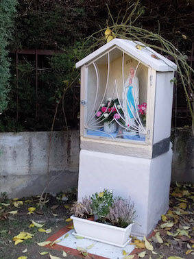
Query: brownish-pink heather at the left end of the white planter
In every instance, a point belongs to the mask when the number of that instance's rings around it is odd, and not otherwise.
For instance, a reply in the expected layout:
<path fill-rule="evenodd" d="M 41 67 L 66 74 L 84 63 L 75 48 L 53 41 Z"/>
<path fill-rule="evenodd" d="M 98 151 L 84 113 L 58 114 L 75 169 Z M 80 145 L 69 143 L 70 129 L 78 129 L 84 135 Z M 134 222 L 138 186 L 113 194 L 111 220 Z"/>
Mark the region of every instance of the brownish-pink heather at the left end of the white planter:
<path fill-rule="evenodd" d="M 93 215 L 93 210 L 91 208 L 92 201 L 90 197 L 85 197 L 82 199 L 82 202 L 76 201 L 75 204 L 71 207 L 71 212 L 75 217 L 82 219 L 87 219 Z"/>

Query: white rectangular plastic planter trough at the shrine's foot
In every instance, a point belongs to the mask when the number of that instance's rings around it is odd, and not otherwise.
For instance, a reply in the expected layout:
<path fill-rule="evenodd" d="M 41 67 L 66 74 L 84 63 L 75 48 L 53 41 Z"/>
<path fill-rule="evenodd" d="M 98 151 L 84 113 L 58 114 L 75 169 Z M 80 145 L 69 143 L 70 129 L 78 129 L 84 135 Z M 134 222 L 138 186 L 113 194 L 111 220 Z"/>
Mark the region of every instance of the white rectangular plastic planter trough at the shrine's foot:
<path fill-rule="evenodd" d="M 71 219 L 73 219 L 73 226 L 76 232 L 73 233 L 74 235 L 83 236 L 109 245 L 116 245 L 117 247 L 125 247 L 130 241 L 133 223 L 123 228 L 74 216 L 71 216 Z"/>

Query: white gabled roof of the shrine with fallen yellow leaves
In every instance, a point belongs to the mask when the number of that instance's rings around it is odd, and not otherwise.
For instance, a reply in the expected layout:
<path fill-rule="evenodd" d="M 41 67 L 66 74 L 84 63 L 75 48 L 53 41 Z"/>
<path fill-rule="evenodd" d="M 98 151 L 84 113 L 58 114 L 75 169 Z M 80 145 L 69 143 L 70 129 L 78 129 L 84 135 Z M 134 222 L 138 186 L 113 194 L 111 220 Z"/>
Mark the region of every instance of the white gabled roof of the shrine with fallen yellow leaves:
<path fill-rule="evenodd" d="M 146 47 L 146 45 L 141 49 L 137 49 L 136 45 L 138 44 L 143 45 L 141 42 L 114 38 L 114 40 L 111 40 L 104 46 L 100 47 L 93 53 L 90 53 L 88 56 L 77 62 L 75 66 L 76 68 L 83 66 L 84 64 L 97 59 L 99 56 L 103 55 L 103 53 L 106 53 L 109 50 L 111 51 L 113 47 L 119 47 L 119 49 L 122 49 L 136 60 L 147 64 L 147 66 L 151 66 L 156 71 L 174 71 L 177 69 L 177 66 L 174 62 L 171 62 L 171 60 L 168 60 L 153 49 Z M 159 59 L 153 58 L 153 55 L 157 56 Z"/>

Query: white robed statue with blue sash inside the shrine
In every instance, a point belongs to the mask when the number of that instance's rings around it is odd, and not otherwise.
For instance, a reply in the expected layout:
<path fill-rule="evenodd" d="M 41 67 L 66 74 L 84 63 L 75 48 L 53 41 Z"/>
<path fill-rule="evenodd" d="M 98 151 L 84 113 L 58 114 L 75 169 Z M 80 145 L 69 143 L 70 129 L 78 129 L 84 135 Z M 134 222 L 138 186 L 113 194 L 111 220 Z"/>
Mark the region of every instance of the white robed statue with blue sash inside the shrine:
<path fill-rule="evenodd" d="M 123 111 L 127 116 L 125 116 L 125 126 L 133 128 L 135 125 L 136 110 L 139 103 L 139 84 L 138 77 L 134 75 L 134 67 L 130 67 L 130 75 L 125 81 L 123 88 Z"/>

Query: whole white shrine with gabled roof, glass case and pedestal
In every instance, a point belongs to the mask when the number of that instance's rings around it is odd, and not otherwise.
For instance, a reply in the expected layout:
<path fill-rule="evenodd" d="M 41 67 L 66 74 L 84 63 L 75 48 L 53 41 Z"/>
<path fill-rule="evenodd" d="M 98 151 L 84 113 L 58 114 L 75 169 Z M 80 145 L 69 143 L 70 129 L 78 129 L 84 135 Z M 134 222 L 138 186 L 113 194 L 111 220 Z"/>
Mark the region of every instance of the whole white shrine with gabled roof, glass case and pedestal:
<path fill-rule="evenodd" d="M 131 197 L 132 234 L 169 208 L 171 110 L 176 65 L 140 42 L 115 38 L 81 67 L 78 200 L 108 188 Z"/>

